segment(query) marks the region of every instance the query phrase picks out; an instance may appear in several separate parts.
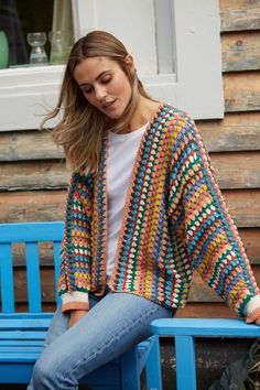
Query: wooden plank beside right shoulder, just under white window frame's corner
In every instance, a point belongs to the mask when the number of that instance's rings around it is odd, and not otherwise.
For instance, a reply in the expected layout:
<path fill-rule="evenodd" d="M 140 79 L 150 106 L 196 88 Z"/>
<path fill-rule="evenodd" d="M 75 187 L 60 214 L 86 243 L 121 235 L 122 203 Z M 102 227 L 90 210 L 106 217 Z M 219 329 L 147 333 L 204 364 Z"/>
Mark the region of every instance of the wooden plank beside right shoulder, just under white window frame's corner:
<path fill-rule="evenodd" d="M 198 120 L 209 152 L 260 150 L 260 112 L 230 112 L 220 120 Z"/>

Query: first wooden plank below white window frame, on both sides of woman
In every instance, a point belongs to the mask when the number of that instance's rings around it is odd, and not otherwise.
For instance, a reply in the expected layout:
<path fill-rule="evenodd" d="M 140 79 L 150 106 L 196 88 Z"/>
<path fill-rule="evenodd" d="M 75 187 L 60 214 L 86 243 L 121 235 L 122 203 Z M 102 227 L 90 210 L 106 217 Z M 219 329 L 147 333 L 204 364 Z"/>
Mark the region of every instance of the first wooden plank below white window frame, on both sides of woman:
<path fill-rule="evenodd" d="M 207 150 L 248 151 L 260 149 L 260 112 L 230 112 L 221 120 L 197 120 Z M 62 150 L 47 131 L 0 132 L 0 161 L 61 160 Z"/>

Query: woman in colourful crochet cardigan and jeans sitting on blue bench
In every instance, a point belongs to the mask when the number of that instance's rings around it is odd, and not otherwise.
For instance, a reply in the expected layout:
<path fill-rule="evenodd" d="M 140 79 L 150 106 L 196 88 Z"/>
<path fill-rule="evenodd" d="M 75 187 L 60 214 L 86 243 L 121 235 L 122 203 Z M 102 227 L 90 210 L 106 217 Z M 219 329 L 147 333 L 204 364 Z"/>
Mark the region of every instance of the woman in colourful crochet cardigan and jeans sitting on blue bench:
<path fill-rule="evenodd" d="M 53 139 L 74 172 L 59 294 L 29 389 L 78 380 L 185 305 L 193 269 L 248 322 L 254 277 L 192 119 L 145 93 L 133 58 L 94 31 L 73 47 Z"/>

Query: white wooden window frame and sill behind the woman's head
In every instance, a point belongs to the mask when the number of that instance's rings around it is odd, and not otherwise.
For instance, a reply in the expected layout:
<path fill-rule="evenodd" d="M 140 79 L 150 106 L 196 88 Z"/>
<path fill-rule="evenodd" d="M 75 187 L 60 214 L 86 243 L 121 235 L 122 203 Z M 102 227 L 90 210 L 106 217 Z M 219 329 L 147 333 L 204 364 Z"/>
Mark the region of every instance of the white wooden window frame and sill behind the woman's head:
<path fill-rule="evenodd" d="M 195 119 L 223 117 L 218 0 L 72 1 L 75 36 L 101 29 L 121 39 L 152 96 Z M 56 102 L 63 71 L 1 71 L 0 130 L 37 128 L 43 107 Z"/>

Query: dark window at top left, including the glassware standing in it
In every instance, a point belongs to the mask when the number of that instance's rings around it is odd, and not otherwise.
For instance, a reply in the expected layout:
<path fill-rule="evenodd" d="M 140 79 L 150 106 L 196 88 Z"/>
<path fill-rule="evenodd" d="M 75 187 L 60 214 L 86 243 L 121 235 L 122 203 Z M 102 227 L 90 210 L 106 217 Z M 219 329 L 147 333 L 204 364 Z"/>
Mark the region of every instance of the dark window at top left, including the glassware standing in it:
<path fill-rule="evenodd" d="M 0 31 L 8 41 L 7 67 L 57 63 L 57 42 L 61 50 L 74 41 L 72 2 L 0 0 Z"/>

